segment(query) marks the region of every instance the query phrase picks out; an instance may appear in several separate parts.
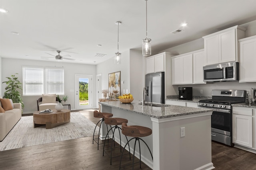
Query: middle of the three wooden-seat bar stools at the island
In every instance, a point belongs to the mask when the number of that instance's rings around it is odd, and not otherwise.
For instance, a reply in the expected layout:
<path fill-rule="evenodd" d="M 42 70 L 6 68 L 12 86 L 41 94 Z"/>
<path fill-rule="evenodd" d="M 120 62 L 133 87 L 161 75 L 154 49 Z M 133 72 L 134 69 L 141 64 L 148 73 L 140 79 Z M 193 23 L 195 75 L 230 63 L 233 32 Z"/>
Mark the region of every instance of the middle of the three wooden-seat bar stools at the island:
<path fill-rule="evenodd" d="M 110 165 L 112 165 L 112 144 L 113 144 L 113 141 L 114 141 L 114 146 L 115 146 L 115 138 L 114 138 L 114 133 L 116 131 L 116 129 L 118 129 L 119 131 L 119 138 L 120 138 L 120 152 L 122 152 L 122 142 L 121 142 L 121 134 L 120 134 L 120 127 L 118 127 L 118 125 L 122 125 L 122 123 L 127 123 L 128 120 L 127 119 L 123 119 L 123 118 L 118 118 L 118 117 L 108 117 L 106 116 L 105 117 L 105 123 L 106 125 L 114 125 L 111 129 L 109 129 L 108 133 L 110 132 L 110 130 L 112 130 L 114 128 L 114 132 L 112 131 L 112 143 L 111 143 L 111 152 L 110 152 Z M 121 129 L 122 130 L 122 129 Z M 108 133 L 106 135 L 106 137 L 108 136 Z M 126 136 L 125 136 L 126 137 Z M 126 137 L 126 141 L 128 142 L 128 139 Z M 104 141 L 104 146 L 103 146 L 103 156 L 104 156 L 104 152 L 105 150 L 108 150 L 108 149 L 104 149 L 105 148 L 105 142 L 106 142 L 106 138 L 105 138 L 105 141 Z M 129 147 L 129 154 L 130 154 L 130 145 L 128 143 L 128 147 Z M 114 147 L 115 148 L 115 147 Z M 119 147 L 118 147 L 119 148 Z M 118 156 L 115 156 L 115 157 L 118 157 Z M 115 158 L 113 157 L 113 158 Z M 131 159 L 131 155 L 130 155 L 130 159 Z"/>

